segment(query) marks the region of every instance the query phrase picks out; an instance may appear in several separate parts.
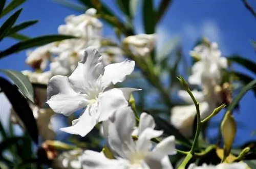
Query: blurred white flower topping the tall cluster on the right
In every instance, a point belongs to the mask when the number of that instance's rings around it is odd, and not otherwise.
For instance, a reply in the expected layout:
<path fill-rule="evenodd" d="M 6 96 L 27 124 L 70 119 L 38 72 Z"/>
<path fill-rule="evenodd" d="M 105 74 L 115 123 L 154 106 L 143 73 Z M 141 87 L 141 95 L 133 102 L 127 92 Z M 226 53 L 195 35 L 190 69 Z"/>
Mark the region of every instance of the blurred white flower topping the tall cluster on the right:
<path fill-rule="evenodd" d="M 200 61 L 192 67 L 192 74 L 188 82 L 194 85 L 218 85 L 221 81 L 221 69 L 227 68 L 227 59 L 221 57 L 221 51 L 216 42 L 210 46 L 200 44 L 190 51 L 190 55 L 196 55 Z"/>

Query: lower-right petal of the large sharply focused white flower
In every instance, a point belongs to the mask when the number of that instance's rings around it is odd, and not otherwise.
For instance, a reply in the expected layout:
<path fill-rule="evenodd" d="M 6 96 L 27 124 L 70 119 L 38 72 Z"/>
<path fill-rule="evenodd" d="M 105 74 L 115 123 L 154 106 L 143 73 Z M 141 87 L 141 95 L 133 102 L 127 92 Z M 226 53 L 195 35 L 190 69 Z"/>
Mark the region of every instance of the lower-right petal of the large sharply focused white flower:
<path fill-rule="evenodd" d="M 128 105 L 123 92 L 119 89 L 111 89 L 104 92 L 98 101 L 98 121 L 108 120 L 110 116 L 117 110 L 118 107 L 125 107 Z"/>

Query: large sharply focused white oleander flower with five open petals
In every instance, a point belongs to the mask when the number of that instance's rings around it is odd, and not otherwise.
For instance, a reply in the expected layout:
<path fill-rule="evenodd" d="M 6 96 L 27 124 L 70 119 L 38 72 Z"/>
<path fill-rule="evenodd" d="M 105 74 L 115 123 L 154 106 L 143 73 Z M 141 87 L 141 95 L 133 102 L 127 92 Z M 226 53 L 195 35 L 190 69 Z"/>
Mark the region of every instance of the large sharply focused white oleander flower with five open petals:
<path fill-rule="evenodd" d="M 108 120 L 118 107 L 127 106 L 131 92 L 138 89 L 113 88 L 113 85 L 130 75 L 134 66 L 135 62 L 129 60 L 104 66 L 99 51 L 89 47 L 69 77 L 52 77 L 47 88 L 47 103 L 56 113 L 70 116 L 87 107 L 71 127 L 61 130 L 85 136 L 97 123 Z"/>

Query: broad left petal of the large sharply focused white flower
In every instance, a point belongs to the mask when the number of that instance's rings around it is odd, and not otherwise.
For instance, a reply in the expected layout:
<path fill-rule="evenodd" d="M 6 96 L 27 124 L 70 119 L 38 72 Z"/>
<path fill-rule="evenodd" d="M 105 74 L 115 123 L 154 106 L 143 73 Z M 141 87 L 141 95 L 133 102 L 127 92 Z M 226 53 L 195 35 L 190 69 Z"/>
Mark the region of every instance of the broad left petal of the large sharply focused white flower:
<path fill-rule="evenodd" d="M 86 100 L 71 88 L 67 76 L 52 77 L 48 83 L 47 95 L 47 104 L 53 111 L 65 116 L 87 105 Z"/>

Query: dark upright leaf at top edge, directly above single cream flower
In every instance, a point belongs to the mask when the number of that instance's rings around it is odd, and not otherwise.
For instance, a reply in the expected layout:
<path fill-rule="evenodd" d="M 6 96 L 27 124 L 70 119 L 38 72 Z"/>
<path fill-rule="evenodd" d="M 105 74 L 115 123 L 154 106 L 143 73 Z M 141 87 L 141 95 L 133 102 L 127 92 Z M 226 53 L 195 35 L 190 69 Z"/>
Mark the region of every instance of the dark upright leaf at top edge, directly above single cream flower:
<path fill-rule="evenodd" d="M 142 4 L 143 11 L 143 21 L 144 21 L 144 31 L 146 34 L 155 33 L 155 11 L 152 0 L 143 0 Z"/>

